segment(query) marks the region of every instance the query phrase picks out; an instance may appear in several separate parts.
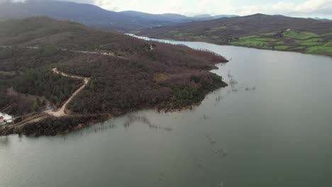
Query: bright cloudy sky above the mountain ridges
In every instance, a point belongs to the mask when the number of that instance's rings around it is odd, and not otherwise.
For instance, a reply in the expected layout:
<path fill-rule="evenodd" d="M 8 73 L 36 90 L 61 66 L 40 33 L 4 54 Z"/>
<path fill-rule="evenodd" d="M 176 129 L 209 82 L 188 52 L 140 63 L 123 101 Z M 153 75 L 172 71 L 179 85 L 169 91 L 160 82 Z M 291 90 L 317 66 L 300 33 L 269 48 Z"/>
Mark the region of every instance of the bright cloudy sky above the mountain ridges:
<path fill-rule="evenodd" d="M 13 0 L 20 1 L 20 0 Z M 66 1 L 66 0 L 61 0 Z M 282 14 L 296 17 L 332 19 L 332 0 L 67 0 L 94 4 L 110 11 L 143 11 L 146 13 L 180 13 L 186 16 L 209 13 Z"/>

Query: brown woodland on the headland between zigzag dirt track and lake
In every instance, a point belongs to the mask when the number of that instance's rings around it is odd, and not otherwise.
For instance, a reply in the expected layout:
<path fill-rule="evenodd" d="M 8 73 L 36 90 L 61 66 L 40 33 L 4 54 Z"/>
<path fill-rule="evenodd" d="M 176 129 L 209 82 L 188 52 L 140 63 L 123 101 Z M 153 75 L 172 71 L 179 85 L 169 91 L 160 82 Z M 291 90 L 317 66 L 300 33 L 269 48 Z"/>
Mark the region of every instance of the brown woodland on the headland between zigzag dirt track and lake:
<path fill-rule="evenodd" d="M 100 55 L 89 60 L 65 62 L 58 67 L 63 72 L 92 77 L 68 106 L 74 113 L 118 115 L 139 108 L 182 108 L 198 103 L 207 92 L 226 86 L 211 78 L 218 76 L 201 71 L 213 69 L 216 62 L 224 62 L 222 57 L 183 46 L 157 43 L 155 50 L 131 60 Z M 203 81 L 190 80 L 192 74 L 199 74 Z"/>

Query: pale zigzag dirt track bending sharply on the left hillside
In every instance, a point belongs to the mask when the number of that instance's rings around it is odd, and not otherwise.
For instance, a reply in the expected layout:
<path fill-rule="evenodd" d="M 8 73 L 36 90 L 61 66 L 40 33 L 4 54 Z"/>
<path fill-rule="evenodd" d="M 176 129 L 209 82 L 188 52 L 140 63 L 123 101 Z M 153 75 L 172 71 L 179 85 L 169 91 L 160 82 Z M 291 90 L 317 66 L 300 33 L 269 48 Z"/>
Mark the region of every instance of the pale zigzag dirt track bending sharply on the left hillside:
<path fill-rule="evenodd" d="M 65 104 L 62 105 L 61 108 L 58 108 L 57 110 L 49 110 L 49 111 L 45 111 L 45 113 L 48 113 L 49 115 L 53 115 L 55 117 L 62 117 L 67 115 L 67 113 L 65 113 L 65 108 L 67 107 L 67 104 L 70 103 L 70 101 L 72 101 L 72 98 L 74 98 L 74 96 L 76 96 L 79 91 L 82 91 L 82 89 L 84 89 L 85 86 L 87 86 L 90 78 L 89 77 L 79 77 L 79 76 L 75 76 L 75 75 L 69 75 L 69 74 L 65 74 L 64 72 L 59 72 L 57 70 L 57 68 L 53 68 L 52 72 L 54 72 L 55 74 L 61 74 L 62 76 L 65 77 L 72 77 L 74 79 L 82 79 L 84 80 L 84 84 L 79 87 L 79 89 L 77 89 L 77 91 L 75 91 L 72 96 L 70 96 L 70 98 L 67 99 L 67 101 L 65 102 Z"/>

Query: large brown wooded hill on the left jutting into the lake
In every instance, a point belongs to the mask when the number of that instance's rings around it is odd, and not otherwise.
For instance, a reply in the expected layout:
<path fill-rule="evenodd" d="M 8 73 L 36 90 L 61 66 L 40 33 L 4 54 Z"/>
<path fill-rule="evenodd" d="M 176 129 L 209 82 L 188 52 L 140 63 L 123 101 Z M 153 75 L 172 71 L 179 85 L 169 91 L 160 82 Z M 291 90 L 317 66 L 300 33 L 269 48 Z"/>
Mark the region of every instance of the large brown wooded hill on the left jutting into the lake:
<path fill-rule="evenodd" d="M 0 22 L 0 109 L 28 113 L 32 94 L 61 106 L 79 84 L 52 76 L 91 77 L 69 103 L 69 113 L 118 115 L 140 108 L 172 109 L 199 103 L 226 84 L 209 73 L 227 62 L 211 52 L 107 33 L 70 21 L 34 17 Z M 50 87 L 49 85 L 54 85 Z M 57 86 L 58 85 L 58 86 Z M 32 88 L 28 89 L 29 86 Z M 68 111 L 68 110 L 67 110 Z"/>

